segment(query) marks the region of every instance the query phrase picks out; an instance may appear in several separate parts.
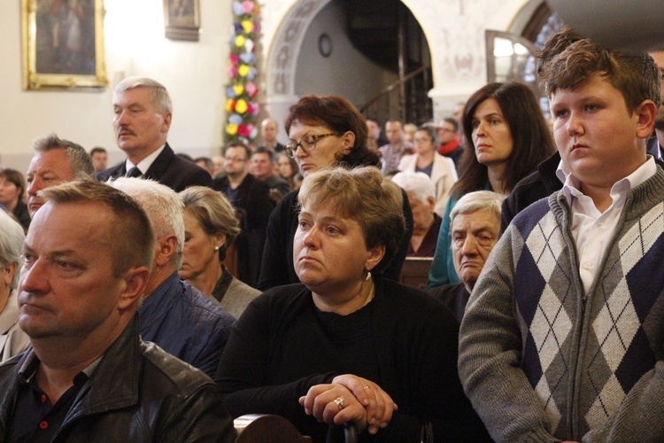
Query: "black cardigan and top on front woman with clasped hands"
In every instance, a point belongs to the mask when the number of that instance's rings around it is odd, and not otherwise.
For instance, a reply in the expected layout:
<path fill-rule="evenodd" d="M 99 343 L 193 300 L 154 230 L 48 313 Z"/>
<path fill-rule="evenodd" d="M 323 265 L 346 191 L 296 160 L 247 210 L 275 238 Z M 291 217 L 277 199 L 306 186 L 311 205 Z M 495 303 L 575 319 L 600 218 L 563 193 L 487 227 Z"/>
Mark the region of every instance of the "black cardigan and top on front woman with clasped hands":
<path fill-rule="evenodd" d="M 452 312 L 411 286 L 382 277 L 375 283 L 374 299 L 346 316 L 320 313 L 303 284 L 251 301 L 217 371 L 231 415 L 285 416 L 324 441 L 327 425 L 306 416 L 297 400 L 313 385 L 350 373 L 374 381 L 398 404 L 377 441 L 419 441 L 425 416 L 446 441 L 488 439 L 459 382 L 459 323 Z"/>

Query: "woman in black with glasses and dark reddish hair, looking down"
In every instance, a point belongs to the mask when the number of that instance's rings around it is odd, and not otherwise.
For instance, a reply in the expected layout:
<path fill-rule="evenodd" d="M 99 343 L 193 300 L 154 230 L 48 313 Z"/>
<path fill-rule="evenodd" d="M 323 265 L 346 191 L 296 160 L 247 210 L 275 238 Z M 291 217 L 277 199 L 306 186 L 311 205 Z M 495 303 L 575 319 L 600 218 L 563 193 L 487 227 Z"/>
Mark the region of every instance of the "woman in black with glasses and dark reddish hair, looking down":
<path fill-rule="evenodd" d="M 313 171 L 333 166 L 380 167 L 380 157 L 367 147 L 367 121 L 344 97 L 308 95 L 290 106 L 285 127 L 290 143 L 284 151 L 295 159 L 306 178 Z M 297 190 L 279 202 L 267 224 L 258 289 L 298 283 L 293 266 L 293 237 L 297 230 Z M 404 198 L 406 233 L 384 276 L 398 280 L 413 234 L 413 213 Z"/>

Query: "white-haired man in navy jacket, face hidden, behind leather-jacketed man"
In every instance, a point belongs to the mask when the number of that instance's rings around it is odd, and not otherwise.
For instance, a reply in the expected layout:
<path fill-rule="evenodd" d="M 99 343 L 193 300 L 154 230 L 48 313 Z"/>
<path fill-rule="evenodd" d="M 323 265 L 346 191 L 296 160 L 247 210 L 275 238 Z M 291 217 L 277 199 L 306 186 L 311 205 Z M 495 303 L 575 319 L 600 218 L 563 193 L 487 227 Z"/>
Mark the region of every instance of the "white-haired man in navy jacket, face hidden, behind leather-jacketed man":
<path fill-rule="evenodd" d="M 214 377 L 235 319 L 178 276 L 184 203 L 174 190 L 152 180 L 120 177 L 110 184 L 143 207 L 157 237 L 145 299 L 138 309 L 141 337 Z"/>

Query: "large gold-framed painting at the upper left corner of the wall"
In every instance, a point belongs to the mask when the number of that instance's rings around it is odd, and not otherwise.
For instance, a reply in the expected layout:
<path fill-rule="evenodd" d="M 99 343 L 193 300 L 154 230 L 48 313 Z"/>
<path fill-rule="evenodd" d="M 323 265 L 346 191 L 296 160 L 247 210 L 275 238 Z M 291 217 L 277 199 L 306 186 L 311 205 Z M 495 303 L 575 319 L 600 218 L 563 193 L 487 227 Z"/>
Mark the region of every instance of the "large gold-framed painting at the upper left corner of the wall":
<path fill-rule="evenodd" d="M 21 0 L 23 89 L 104 88 L 104 0 Z"/>

